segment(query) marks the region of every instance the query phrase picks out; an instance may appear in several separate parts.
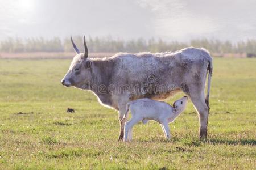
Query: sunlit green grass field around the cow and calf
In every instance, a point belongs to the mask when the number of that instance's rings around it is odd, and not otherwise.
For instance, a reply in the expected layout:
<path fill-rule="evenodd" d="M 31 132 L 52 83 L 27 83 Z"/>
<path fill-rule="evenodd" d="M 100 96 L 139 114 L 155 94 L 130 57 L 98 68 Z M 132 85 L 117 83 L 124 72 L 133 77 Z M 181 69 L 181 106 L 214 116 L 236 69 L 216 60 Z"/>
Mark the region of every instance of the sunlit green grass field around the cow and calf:
<path fill-rule="evenodd" d="M 171 141 L 151 121 L 118 142 L 117 111 L 61 86 L 70 62 L 0 60 L 0 169 L 256 169 L 256 59 L 214 58 L 206 142 L 190 101 Z"/>

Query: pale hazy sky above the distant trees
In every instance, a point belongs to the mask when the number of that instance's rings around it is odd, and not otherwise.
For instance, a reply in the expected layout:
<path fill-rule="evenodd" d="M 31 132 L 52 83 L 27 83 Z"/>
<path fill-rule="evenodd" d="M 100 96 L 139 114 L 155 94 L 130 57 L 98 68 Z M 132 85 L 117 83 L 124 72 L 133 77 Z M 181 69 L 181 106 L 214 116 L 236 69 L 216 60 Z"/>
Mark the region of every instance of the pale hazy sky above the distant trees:
<path fill-rule="evenodd" d="M 0 0 L 0 39 L 108 36 L 256 39 L 253 0 Z"/>

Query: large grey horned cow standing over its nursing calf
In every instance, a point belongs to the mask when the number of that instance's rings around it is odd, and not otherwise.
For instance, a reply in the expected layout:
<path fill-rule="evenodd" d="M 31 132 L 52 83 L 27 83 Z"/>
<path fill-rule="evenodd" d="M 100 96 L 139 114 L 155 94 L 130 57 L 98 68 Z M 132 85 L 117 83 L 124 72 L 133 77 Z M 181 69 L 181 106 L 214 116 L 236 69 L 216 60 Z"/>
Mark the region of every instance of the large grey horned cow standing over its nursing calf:
<path fill-rule="evenodd" d="M 184 92 L 199 115 L 200 139 L 207 138 L 212 57 L 203 48 L 184 48 L 164 53 L 117 53 L 108 58 L 88 58 L 84 37 L 84 53 L 72 40 L 76 55 L 61 80 L 66 86 L 92 91 L 98 101 L 119 112 L 119 140 L 123 141 L 123 119 L 129 101 L 150 98 L 164 100 Z M 207 95 L 205 83 L 208 74 Z"/>

